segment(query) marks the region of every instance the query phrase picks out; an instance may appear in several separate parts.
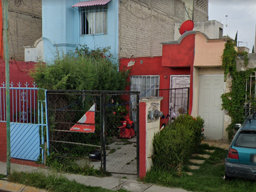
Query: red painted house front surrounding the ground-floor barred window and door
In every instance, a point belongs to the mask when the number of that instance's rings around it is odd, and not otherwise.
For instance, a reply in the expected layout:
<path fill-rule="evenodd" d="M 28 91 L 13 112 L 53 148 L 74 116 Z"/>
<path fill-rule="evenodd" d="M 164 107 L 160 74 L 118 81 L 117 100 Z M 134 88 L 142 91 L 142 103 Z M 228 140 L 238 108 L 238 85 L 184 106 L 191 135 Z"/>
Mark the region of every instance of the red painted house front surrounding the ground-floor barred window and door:
<path fill-rule="evenodd" d="M 170 76 L 190 75 L 189 89 L 189 114 L 193 104 L 193 63 L 195 58 L 195 34 L 185 36 L 180 44 L 163 45 L 163 56 L 145 58 L 122 58 L 120 59 L 120 70 L 131 70 L 130 76 L 160 76 L 159 89 L 170 89 Z M 130 61 L 134 65 L 127 67 Z M 130 79 L 127 79 L 129 82 Z M 130 86 L 127 86 L 127 91 Z M 166 116 L 169 110 L 169 93 L 163 93 L 161 111 Z M 167 124 L 168 119 L 162 118 L 161 124 Z"/>

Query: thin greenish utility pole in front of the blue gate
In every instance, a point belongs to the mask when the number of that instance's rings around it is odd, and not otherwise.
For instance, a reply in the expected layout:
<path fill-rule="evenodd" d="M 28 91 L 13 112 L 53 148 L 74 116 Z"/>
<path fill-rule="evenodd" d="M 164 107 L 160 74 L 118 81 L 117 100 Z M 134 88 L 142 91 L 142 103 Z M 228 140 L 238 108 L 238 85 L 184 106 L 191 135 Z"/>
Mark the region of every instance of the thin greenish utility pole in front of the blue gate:
<path fill-rule="evenodd" d="M 9 40 L 8 40 L 8 0 L 4 0 L 4 56 L 6 79 L 6 168 L 7 177 L 11 172 L 11 129 L 10 129 L 10 68 L 9 68 Z"/>

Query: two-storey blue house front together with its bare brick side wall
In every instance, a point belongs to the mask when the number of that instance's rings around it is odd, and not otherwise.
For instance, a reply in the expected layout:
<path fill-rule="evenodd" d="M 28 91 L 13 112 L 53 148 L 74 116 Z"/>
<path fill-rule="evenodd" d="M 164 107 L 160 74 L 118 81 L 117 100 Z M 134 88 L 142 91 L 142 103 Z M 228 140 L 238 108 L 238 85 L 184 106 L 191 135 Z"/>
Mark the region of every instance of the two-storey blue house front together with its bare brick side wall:
<path fill-rule="evenodd" d="M 116 59 L 161 56 L 175 23 L 208 20 L 208 1 L 43 0 L 42 17 L 45 61 L 79 45 L 111 47 Z"/>

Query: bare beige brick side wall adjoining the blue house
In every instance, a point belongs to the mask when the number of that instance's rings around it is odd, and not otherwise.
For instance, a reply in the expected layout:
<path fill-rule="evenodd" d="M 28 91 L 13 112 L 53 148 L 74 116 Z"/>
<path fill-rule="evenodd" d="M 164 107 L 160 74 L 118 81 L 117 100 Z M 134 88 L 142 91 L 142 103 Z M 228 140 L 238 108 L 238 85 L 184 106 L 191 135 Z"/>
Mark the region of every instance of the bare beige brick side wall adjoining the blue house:
<path fill-rule="evenodd" d="M 207 1 L 208 6 L 208 0 L 201 1 Z M 202 8 L 198 5 L 196 20 L 207 20 L 207 12 L 201 12 Z M 161 42 L 174 40 L 174 23 L 184 22 L 185 15 L 184 3 L 181 0 L 121 1 L 119 4 L 120 58 L 130 58 L 132 55 L 161 56 Z"/>

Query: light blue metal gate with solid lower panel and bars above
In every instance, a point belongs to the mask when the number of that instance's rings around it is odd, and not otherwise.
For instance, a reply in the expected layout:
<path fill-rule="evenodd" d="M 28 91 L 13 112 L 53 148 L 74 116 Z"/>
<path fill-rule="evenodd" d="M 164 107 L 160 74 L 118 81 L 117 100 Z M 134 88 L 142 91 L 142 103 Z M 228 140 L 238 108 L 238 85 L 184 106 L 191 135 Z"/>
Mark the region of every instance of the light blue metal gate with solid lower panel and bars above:
<path fill-rule="evenodd" d="M 0 87 L 0 121 L 6 122 L 6 84 Z M 11 157 L 44 161 L 48 154 L 46 90 L 36 84 L 10 84 Z"/>

